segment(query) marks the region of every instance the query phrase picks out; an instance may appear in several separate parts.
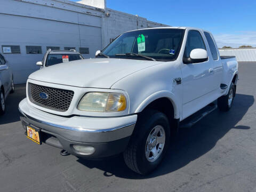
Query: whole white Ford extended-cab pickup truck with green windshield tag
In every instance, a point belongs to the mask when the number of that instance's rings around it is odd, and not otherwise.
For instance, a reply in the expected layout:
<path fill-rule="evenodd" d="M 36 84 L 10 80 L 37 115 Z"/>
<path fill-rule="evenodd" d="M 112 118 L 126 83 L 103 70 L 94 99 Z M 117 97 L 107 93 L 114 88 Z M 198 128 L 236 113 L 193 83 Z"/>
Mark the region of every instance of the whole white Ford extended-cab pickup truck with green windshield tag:
<path fill-rule="evenodd" d="M 235 57 L 220 57 L 209 31 L 134 30 L 94 59 L 31 74 L 19 104 L 21 122 L 27 138 L 63 149 L 62 155 L 123 153 L 130 169 L 147 174 L 162 161 L 179 124 L 193 125 L 217 103 L 221 111 L 231 108 L 237 79 Z"/>

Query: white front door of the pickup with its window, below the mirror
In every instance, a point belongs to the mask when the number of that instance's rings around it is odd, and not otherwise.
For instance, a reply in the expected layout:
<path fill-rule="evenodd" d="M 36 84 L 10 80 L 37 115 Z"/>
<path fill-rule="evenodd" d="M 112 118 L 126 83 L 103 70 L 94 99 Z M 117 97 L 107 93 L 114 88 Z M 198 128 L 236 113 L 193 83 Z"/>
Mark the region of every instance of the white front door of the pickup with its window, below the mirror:
<path fill-rule="evenodd" d="M 204 39 L 198 30 L 189 30 L 183 57 L 189 58 L 194 49 L 204 49 Z M 207 51 L 209 54 L 209 51 Z M 208 97 L 213 87 L 213 65 L 208 59 L 204 62 L 189 63 L 181 65 L 183 84 L 183 119 L 194 114 L 197 110 L 209 104 Z"/>

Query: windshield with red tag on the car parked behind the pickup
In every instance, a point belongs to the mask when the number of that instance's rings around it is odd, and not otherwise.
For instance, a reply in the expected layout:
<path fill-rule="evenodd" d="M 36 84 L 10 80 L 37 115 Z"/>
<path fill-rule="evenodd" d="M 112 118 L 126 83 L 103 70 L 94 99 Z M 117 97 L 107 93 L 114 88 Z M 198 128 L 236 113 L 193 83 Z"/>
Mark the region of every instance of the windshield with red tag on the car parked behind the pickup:
<path fill-rule="evenodd" d="M 83 59 L 79 54 L 49 54 L 45 66 L 52 66 L 62 62 L 75 61 Z"/>

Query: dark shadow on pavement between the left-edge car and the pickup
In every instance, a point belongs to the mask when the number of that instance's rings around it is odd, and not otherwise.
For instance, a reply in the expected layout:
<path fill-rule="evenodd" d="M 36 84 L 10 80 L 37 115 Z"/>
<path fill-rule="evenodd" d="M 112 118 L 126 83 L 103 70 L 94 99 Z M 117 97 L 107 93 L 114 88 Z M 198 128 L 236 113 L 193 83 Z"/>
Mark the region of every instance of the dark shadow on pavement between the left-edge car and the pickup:
<path fill-rule="evenodd" d="M 19 102 L 26 98 L 26 85 L 16 85 L 15 91 L 9 94 L 5 105 L 5 114 L 0 116 L 0 125 L 20 121 Z"/>

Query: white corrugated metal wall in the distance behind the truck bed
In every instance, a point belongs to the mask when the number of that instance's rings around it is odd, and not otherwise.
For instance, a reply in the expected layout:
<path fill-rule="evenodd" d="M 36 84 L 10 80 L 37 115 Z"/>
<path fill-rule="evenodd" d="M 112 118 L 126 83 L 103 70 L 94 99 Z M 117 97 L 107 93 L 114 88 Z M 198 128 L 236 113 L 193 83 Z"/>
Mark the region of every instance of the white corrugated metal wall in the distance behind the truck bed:
<path fill-rule="evenodd" d="M 255 49 L 220 49 L 221 56 L 236 56 L 237 61 L 256 61 Z"/>

